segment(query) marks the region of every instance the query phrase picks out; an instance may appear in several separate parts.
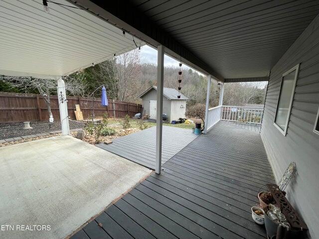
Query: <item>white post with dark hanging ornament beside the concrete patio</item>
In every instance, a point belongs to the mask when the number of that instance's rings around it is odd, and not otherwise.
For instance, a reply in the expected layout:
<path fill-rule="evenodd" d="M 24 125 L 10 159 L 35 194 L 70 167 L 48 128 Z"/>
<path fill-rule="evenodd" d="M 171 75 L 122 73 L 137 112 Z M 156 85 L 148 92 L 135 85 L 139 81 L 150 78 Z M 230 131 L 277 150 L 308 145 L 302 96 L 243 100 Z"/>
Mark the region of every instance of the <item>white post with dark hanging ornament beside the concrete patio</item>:
<path fill-rule="evenodd" d="M 65 84 L 62 78 L 58 79 L 58 101 L 59 101 L 59 111 L 62 126 L 62 135 L 68 135 L 70 133 L 69 128 L 69 117 L 68 117 L 68 107 L 65 94 Z"/>

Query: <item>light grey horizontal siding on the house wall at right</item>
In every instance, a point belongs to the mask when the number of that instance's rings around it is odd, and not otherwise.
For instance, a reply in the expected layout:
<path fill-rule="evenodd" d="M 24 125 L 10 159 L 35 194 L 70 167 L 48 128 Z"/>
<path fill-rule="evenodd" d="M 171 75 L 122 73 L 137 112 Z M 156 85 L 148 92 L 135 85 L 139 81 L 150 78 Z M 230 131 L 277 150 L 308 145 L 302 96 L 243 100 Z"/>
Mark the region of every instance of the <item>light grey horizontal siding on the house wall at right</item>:
<path fill-rule="evenodd" d="M 287 187 L 290 202 L 319 239 L 319 135 L 313 132 L 319 107 L 319 15 L 271 69 L 261 129 L 278 182 L 295 161 L 297 176 Z M 293 107 L 284 136 L 274 125 L 282 75 L 300 63 Z"/>

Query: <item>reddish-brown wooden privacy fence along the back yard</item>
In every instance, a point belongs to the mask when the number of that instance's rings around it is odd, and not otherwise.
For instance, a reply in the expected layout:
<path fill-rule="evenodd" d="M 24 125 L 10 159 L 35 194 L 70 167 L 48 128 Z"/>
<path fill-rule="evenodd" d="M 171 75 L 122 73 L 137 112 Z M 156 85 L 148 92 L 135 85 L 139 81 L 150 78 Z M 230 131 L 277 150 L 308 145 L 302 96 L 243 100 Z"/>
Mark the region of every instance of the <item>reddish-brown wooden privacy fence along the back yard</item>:
<path fill-rule="evenodd" d="M 101 106 L 101 99 L 67 97 L 68 114 L 70 119 L 75 119 L 75 105 L 80 105 L 83 118 L 92 116 L 94 109 L 95 117 L 102 117 L 108 113 L 110 117 L 122 118 L 126 115 L 133 117 L 142 112 L 142 105 L 109 100 L 109 106 Z M 57 96 L 50 96 L 51 111 L 54 120 L 60 120 L 59 104 Z M 23 122 L 48 120 L 48 110 L 44 99 L 36 94 L 18 94 L 0 92 L 0 122 Z"/>

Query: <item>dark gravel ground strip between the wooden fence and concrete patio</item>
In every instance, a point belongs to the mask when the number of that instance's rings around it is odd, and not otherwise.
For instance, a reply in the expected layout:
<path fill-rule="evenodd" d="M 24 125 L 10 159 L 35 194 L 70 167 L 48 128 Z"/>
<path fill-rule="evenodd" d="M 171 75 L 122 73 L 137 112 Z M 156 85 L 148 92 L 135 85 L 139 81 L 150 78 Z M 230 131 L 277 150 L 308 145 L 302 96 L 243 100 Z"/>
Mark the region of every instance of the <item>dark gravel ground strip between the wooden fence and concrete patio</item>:
<path fill-rule="evenodd" d="M 84 123 L 69 121 L 70 129 L 83 128 Z M 0 139 L 20 137 L 29 134 L 46 133 L 55 130 L 61 130 L 61 122 L 55 121 L 51 128 L 46 121 L 30 122 L 32 129 L 23 129 L 23 122 L 19 123 L 0 123 Z"/>

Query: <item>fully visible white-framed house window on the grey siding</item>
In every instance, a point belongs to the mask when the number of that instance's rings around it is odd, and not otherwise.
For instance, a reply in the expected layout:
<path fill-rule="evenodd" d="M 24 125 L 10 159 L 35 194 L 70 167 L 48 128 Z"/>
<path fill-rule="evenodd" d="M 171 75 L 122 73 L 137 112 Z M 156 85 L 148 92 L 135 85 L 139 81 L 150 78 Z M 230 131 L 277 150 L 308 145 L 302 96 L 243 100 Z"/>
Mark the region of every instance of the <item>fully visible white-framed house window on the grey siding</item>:
<path fill-rule="evenodd" d="M 287 134 L 287 127 L 290 112 L 293 105 L 295 87 L 297 82 L 299 64 L 283 74 L 280 95 L 277 105 L 275 126 L 284 134 Z"/>

